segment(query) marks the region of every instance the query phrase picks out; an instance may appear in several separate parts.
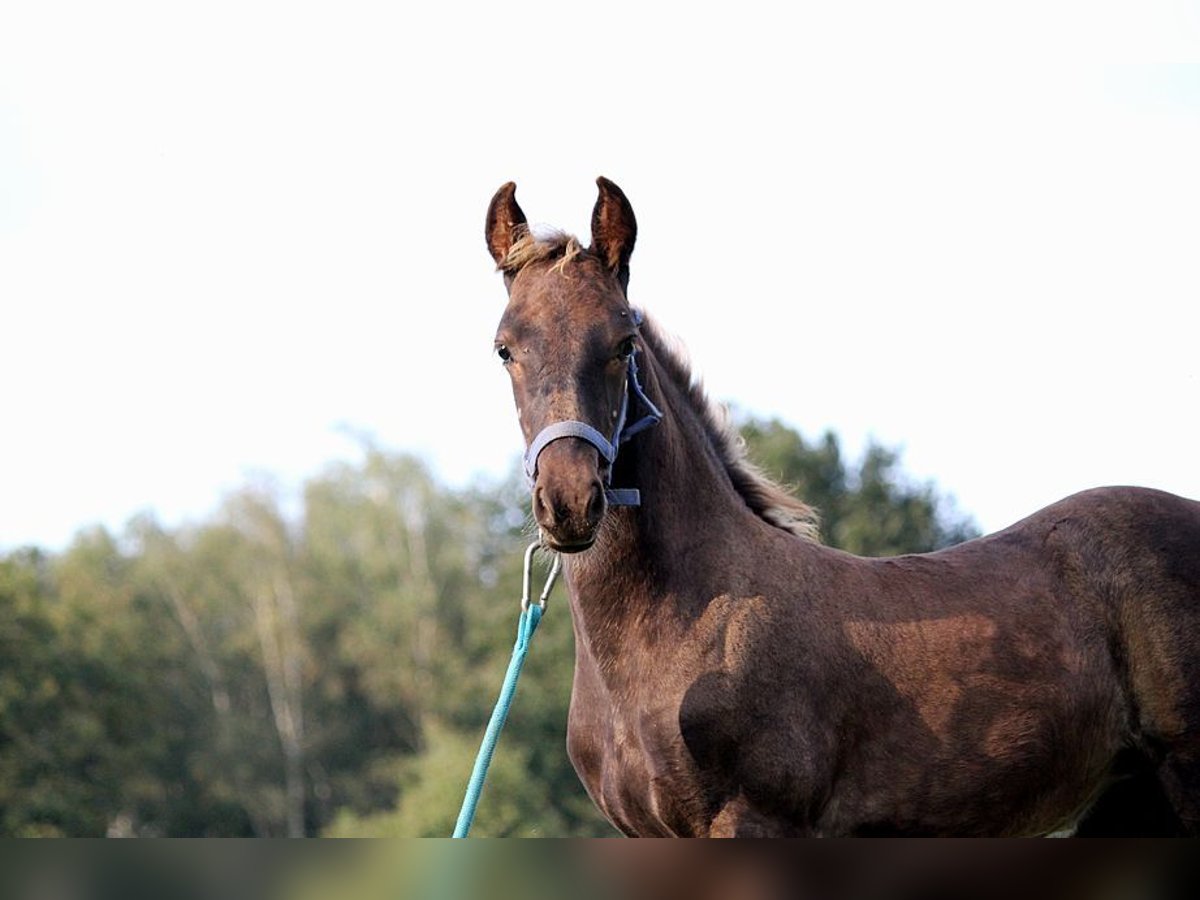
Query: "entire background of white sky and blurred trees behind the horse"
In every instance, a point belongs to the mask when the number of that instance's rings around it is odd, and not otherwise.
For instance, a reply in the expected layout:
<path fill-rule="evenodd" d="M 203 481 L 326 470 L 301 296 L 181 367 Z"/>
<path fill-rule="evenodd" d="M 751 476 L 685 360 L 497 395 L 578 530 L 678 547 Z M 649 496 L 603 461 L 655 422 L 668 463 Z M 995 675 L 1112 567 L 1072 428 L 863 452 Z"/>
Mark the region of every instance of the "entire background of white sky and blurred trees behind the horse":
<path fill-rule="evenodd" d="M 587 236 L 866 554 L 1200 496 L 1200 10 L 0 10 L 0 834 L 437 835 L 528 499 L 482 220 Z M 478 834 L 611 833 L 562 599 Z"/>

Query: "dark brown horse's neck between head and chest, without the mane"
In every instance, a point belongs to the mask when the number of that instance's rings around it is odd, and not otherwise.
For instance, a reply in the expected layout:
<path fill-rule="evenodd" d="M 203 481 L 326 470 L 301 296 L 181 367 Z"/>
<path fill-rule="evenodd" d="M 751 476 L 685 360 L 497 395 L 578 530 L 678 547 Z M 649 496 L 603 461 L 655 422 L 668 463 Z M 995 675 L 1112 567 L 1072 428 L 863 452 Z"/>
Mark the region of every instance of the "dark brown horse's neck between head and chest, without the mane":
<path fill-rule="evenodd" d="M 703 599 L 728 590 L 754 517 L 686 388 L 653 348 L 641 366 L 662 421 L 620 448 L 613 473 L 614 486 L 641 491 L 641 506 L 610 510 L 595 545 L 566 559 L 576 628 L 589 636 L 628 632 L 629 618 L 686 628 Z"/>

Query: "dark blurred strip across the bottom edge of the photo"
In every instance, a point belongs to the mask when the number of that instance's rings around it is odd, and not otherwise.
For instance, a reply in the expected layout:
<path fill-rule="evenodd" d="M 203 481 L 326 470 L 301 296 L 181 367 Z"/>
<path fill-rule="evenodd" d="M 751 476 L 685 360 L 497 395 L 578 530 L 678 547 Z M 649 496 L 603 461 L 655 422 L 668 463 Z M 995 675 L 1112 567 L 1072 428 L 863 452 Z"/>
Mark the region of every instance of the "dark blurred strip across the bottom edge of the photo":
<path fill-rule="evenodd" d="M 0 850 L 13 900 L 1183 900 L 1184 842 L 278 841 Z"/>

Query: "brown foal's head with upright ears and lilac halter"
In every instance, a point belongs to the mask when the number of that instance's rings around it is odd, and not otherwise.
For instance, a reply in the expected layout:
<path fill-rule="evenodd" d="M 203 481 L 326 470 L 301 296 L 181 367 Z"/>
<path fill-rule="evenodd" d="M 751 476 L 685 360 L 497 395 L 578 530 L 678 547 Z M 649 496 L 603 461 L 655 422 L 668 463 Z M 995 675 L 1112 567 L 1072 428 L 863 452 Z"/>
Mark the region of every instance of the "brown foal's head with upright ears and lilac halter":
<path fill-rule="evenodd" d="M 534 520 L 565 553 L 592 546 L 610 505 L 636 505 L 636 491 L 608 487 L 613 462 L 659 416 L 637 380 L 641 317 L 625 295 L 637 222 L 617 185 L 596 184 L 587 248 L 530 234 L 512 182 L 487 210 L 487 248 L 509 292 L 496 353 L 524 432 Z"/>

